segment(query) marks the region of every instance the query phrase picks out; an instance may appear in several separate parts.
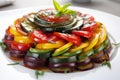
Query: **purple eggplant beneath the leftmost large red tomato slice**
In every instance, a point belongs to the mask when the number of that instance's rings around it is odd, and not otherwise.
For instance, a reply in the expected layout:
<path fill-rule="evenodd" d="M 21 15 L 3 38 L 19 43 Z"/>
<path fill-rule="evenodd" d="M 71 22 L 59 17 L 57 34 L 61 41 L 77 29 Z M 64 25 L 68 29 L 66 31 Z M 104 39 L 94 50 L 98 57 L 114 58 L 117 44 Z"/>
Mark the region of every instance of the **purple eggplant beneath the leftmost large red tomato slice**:
<path fill-rule="evenodd" d="M 11 57 L 14 58 L 24 58 L 25 55 L 27 54 L 27 51 L 20 51 L 20 50 L 15 50 L 15 49 L 10 49 L 9 54 Z"/>

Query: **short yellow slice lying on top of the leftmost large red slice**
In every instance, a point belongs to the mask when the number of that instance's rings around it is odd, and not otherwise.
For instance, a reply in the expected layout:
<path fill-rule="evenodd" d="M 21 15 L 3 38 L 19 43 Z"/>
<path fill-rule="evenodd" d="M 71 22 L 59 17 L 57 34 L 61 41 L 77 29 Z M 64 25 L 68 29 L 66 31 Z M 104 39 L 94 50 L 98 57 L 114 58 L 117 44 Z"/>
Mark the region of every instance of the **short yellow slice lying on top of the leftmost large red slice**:
<path fill-rule="evenodd" d="M 33 43 L 32 40 L 28 36 L 14 36 L 14 41 L 19 42 L 19 43 Z"/>

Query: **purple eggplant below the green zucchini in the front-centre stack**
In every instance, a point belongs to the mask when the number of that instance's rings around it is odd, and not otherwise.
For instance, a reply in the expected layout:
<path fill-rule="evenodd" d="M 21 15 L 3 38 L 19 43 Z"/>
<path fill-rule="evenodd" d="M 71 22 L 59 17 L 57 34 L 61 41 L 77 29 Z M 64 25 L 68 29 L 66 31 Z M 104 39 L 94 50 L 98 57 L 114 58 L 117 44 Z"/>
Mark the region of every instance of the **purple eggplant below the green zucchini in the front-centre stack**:
<path fill-rule="evenodd" d="M 68 63 L 50 63 L 49 69 L 55 73 L 70 73 L 75 71 L 75 62 Z"/>

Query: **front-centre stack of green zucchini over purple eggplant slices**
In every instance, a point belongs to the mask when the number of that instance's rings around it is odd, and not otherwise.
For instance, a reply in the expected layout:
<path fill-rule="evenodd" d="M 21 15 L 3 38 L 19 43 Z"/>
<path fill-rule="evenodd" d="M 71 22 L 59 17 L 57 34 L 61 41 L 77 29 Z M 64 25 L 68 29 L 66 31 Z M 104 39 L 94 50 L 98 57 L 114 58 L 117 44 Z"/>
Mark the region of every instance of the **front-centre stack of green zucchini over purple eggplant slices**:
<path fill-rule="evenodd" d="M 56 73 L 69 73 L 75 71 L 76 57 L 53 57 L 49 59 L 49 69 Z"/>

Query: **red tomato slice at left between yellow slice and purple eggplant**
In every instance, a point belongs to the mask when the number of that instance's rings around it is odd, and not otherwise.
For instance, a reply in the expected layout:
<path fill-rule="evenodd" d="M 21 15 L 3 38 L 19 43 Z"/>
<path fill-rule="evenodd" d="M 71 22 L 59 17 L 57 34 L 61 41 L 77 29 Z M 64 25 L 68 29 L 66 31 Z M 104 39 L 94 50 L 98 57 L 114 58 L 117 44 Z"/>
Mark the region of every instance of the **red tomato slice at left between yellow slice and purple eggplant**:
<path fill-rule="evenodd" d="M 12 41 L 11 48 L 15 50 L 21 50 L 26 51 L 28 50 L 33 44 L 24 44 L 24 43 L 18 43 L 16 41 Z"/>

